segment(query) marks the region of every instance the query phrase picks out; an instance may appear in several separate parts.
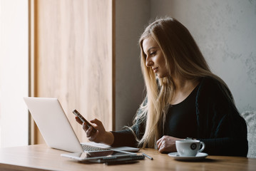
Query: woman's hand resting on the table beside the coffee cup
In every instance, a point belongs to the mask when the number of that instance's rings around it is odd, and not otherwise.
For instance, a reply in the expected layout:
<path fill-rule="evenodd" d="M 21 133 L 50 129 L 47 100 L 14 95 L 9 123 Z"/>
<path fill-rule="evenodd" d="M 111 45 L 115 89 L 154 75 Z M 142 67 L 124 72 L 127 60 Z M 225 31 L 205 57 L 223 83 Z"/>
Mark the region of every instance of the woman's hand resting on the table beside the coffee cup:
<path fill-rule="evenodd" d="M 175 145 L 176 140 L 182 140 L 182 139 L 164 135 L 162 138 L 160 138 L 157 141 L 158 151 L 159 152 L 176 152 L 177 151 L 176 145 Z"/>

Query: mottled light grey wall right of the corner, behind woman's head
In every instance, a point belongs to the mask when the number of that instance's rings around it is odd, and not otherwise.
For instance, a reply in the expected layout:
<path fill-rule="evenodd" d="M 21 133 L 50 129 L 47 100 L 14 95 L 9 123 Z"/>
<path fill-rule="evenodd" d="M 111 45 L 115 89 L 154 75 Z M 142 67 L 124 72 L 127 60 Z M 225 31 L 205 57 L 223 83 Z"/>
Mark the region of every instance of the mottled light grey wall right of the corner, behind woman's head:
<path fill-rule="evenodd" d="M 173 16 L 193 34 L 240 112 L 256 110 L 256 1 L 151 0 L 151 18 Z"/>

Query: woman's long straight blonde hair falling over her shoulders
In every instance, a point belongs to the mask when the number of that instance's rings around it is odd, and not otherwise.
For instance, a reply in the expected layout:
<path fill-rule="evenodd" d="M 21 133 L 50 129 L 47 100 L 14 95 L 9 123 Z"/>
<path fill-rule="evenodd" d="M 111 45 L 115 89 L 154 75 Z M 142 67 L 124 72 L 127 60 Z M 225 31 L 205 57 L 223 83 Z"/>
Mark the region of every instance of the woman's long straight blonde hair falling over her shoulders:
<path fill-rule="evenodd" d="M 145 66 L 145 53 L 143 52 L 143 40 L 153 38 L 163 52 L 166 68 L 169 76 L 157 78 L 151 68 Z M 205 61 L 193 36 L 191 36 L 183 24 L 168 17 L 158 19 L 145 28 L 140 36 L 140 66 L 145 81 L 148 103 L 140 105 L 140 115 L 136 115 L 133 123 L 140 120 L 145 123 L 145 133 L 138 140 L 140 147 L 156 147 L 156 141 L 163 133 L 165 115 L 168 112 L 170 101 L 173 97 L 175 85 L 173 76 L 181 76 L 188 80 L 198 80 L 205 76 L 217 79 L 225 85 L 219 77 L 215 76 Z M 228 88 L 227 88 L 228 90 Z"/>

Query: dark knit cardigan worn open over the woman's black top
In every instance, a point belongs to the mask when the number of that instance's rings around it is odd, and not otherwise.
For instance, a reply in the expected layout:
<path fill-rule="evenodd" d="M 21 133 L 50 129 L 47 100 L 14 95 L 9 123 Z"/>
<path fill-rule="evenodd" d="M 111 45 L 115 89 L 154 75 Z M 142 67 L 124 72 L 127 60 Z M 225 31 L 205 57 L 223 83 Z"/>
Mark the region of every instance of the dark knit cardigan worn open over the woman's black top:
<path fill-rule="evenodd" d="M 225 87 L 213 78 L 202 78 L 195 97 L 196 139 L 205 142 L 209 155 L 247 156 L 247 125 L 232 103 Z M 230 97 L 229 97 L 230 96 Z M 147 100 L 145 99 L 145 103 Z M 138 110 L 136 115 L 140 115 Z M 131 127 L 138 139 L 143 137 L 145 123 L 137 122 Z M 138 142 L 130 130 L 112 132 L 113 146 L 133 146 Z"/>

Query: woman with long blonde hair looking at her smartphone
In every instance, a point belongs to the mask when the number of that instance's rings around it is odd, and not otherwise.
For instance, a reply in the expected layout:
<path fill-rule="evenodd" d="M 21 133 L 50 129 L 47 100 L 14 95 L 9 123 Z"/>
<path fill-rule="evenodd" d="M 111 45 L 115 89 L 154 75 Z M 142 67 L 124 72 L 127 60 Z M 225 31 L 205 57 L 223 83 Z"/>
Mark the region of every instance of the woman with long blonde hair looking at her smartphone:
<path fill-rule="evenodd" d="M 95 119 L 89 140 L 175 152 L 175 140 L 205 142 L 209 155 L 247 155 L 247 126 L 227 85 L 215 76 L 185 26 L 173 18 L 150 24 L 140 37 L 147 95 L 133 126 L 108 132 Z M 82 124 L 78 118 L 78 123 Z"/>

